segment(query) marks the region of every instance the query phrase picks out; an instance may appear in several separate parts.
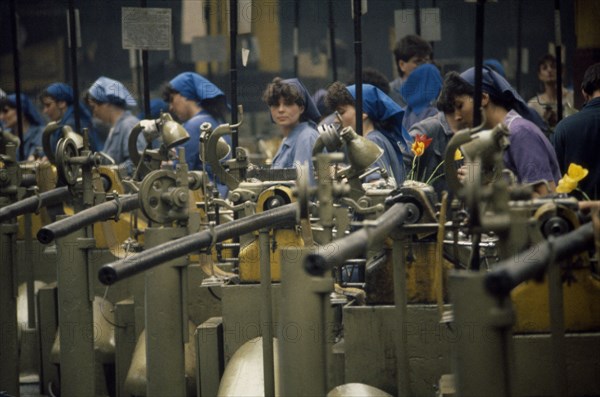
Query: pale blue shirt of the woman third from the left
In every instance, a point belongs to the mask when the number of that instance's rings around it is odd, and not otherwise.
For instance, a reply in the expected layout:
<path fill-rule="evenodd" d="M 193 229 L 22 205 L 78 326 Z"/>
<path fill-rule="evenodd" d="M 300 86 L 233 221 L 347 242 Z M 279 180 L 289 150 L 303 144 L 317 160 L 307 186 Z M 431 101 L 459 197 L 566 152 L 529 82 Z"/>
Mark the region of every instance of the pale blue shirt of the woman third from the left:
<path fill-rule="evenodd" d="M 126 110 L 110 129 L 104 143 L 103 152 L 112 157 L 116 164 L 126 163 L 129 174 L 132 173 L 134 166 L 129 159 L 129 135 L 139 122 L 137 117 Z M 140 134 L 137 141 L 138 152 L 142 152 L 144 148 L 144 136 Z"/>

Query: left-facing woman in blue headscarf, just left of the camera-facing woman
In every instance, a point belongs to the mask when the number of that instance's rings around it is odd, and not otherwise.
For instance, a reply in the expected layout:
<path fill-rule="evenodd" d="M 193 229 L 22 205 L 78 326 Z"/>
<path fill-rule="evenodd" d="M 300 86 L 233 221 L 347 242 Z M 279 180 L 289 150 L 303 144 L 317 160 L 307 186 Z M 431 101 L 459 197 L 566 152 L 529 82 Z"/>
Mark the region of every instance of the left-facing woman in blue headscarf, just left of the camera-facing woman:
<path fill-rule="evenodd" d="M 209 123 L 212 128 L 225 122 L 227 99 L 223 91 L 198 73 L 184 72 L 171 81 L 163 91 L 163 99 L 169 104 L 169 111 L 183 123 L 183 128 L 190 139 L 183 144 L 185 161 L 190 170 L 204 168 L 200 160 L 200 126 Z M 231 145 L 231 136 L 225 140 Z M 214 179 L 210 167 L 206 171 L 211 180 Z M 221 197 L 227 197 L 227 186 L 216 182 Z"/>

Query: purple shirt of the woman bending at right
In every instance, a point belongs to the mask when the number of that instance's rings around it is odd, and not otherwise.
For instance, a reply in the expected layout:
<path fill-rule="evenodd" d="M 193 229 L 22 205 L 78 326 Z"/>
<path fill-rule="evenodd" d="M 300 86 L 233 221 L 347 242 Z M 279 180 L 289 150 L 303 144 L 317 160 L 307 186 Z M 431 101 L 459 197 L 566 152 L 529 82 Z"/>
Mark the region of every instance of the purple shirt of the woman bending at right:
<path fill-rule="evenodd" d="M 511 110 L 504 118 L 510 131 L 510 146 L 504 153 L 504 165 L 520 183 L 534 184 L 560 179 L 556 152 L 544 133 L 531 121 Z"/>

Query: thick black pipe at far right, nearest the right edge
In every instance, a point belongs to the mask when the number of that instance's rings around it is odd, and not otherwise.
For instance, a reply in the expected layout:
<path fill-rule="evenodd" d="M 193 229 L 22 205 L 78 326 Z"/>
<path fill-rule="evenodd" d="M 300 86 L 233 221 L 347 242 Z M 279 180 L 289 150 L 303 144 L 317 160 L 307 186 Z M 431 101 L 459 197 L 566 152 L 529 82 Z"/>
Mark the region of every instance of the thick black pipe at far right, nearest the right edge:
<path fill-rule="evenodd" d="M 527 260 L 515 258 L 498 263 L 485 276 L 485 288 L 493 295 L 507 296 L 520 283 L 539 277 L 549 265 L 556 265 L 572 255 L 594 248 L 594 229 L 589 222 L 560 237 L 550 238 L 527 250 Z"/>

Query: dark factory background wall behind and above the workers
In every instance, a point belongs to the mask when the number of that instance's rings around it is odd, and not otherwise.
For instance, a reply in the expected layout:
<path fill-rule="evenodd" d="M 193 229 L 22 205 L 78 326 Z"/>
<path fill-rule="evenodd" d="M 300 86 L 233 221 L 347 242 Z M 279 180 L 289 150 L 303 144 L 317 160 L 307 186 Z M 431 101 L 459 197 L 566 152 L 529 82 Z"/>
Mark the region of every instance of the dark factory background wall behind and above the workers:
<path fill-rule="evenodd" d="M 12 69 L 12 36 L 10 30 L 9 1 L 0 5 L 0 87 L 11 91 L 14 86 Z M 132 81 L 129 52 L 121 47 L 121 7 L 140 6 L 133 0 L 74 0 L 80 10 L 83 47 L 79 51 L 79 84 L 81 89 L 89 86 L 100 75 L 107 75 L 125 82 Z M 594 2 L 592 2 L 594 3 Z M 212 1 L 222 7 L 225 1 Z M 240 68 L 239 84 L 242 99 L 248 108 L 260 109 L 260 88 L 275 74 L 289 77 L 293 74 L 292 31 L 294 24 L 294 1 L 273 1 L 278 6 L 281 70 L 277 73 L 261 71 L 256 64 Z M 328 19 L 327 1 L 300 1 L 299 46 L 300 51 L 317 56 L 327 53 Z M 335 34 L 339 78 L 345 80 L 354 70 L 353 21 L 351 1 L 334 0 Z M 572 0 L 561 0 L 562 34 L 566 51 L 566 82 L 573 81 L 573 52 L 575 50 L 574 4 Z M 22 86 L 29 93 L 41 90 L 51 79 L 68 81 L 70 78 L 69 51 L 66 46 L 67 0 L 16 0 L 19 16 Z M 179 42 L 181 30 L 181 2 L 178 0 L 148 0 L 149 7 L 172 9 L 174 49 L 150 52 L 150 83 L 154 91 L 161 84 L 182 70 L 193 70 L 190 46 Z M 265 4 L 263 3 L 263 7 Z M 391 48 L 394 35 L 394 10 L 415 7 L 439 7 L 441 14 L 441 41 L 434 42 L 434 58 L 443 67 L 465 69 L 474 61 L 475 5 L 462 0 L 370 0 L 368 12 L 362 18 L 363 65 L 382 71 L 388 78 L 395 77 Z M 201 18 L 202 16 L 199 16 Z M 265 18 L 265 16 L 263 16 Z M 260 18 L 255 23 L 267 23 Z M 484 57 L 497 58 L 505 62 L 508 69 L 515 69 L 509 62 L 509 49 L 516 48 L 519 26 L 521 45 L 528 51 L 526 73 L 520 76 L 518 87 L 522 96 L 528 98 L 538 89 L 535 68 L 538 58 L 548 51 L 554 41 L 553 0 L 498 0 L 485 7 Z M 62 49 L 60 48 L 62 46 Z M 269 51 L 261 48 L 261 52 Z M 60 54 L 60 56 L 57 56 Z M 315 58 L 317 59 L 317 58 Z M 300 77 L 303 77 L 302 69 Z M 217 84 L 228 90 L 228 65 L 221 65 L 211 76 Z M 509 76 L 516 84 L 516 76 Z M 306 84 L 315 90 L 331 82 L 331 72 L 322 77 L 306 77 Z M 256 89 L 243 90 L 244 85 Z"/>

